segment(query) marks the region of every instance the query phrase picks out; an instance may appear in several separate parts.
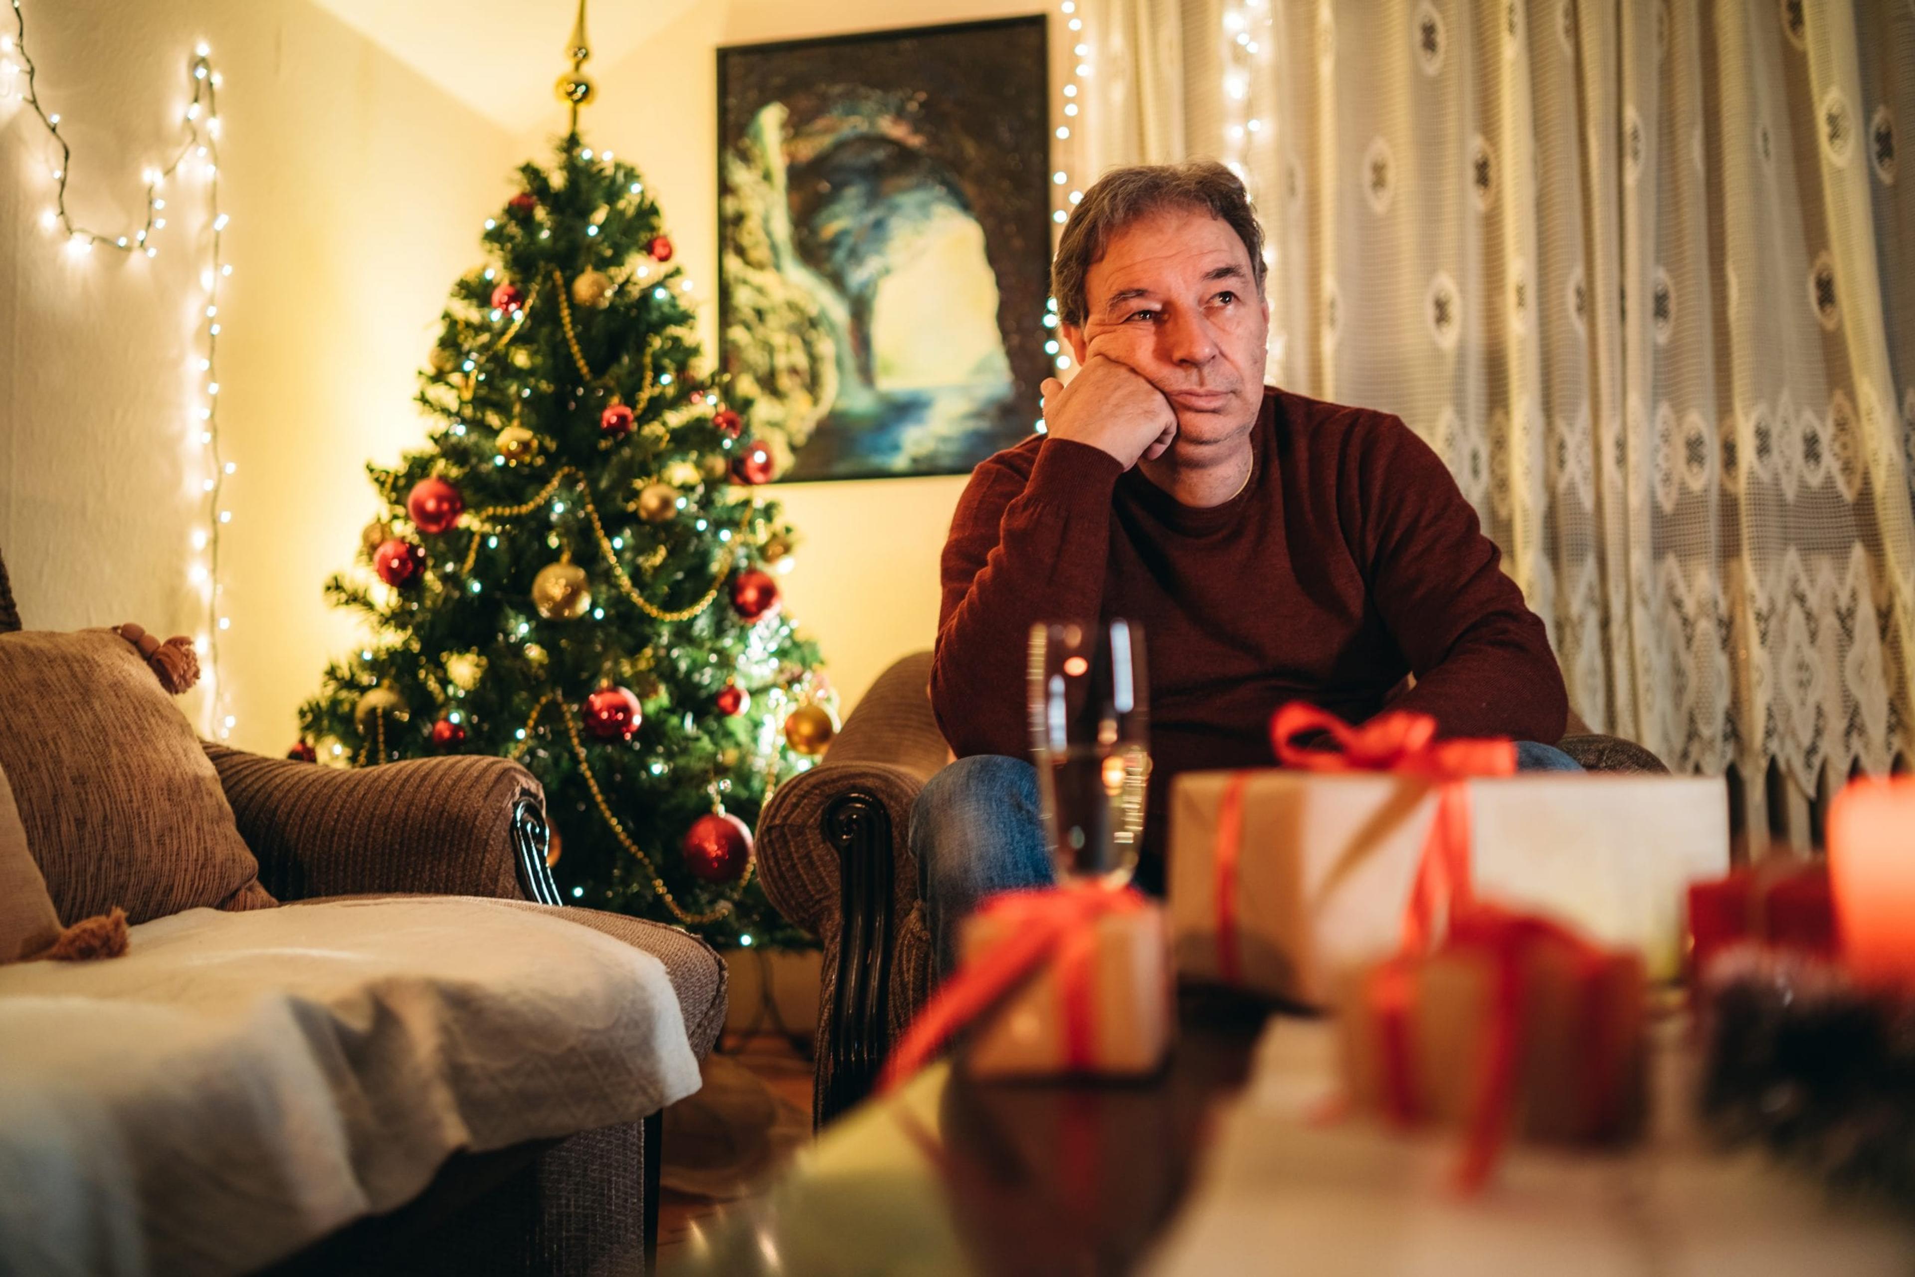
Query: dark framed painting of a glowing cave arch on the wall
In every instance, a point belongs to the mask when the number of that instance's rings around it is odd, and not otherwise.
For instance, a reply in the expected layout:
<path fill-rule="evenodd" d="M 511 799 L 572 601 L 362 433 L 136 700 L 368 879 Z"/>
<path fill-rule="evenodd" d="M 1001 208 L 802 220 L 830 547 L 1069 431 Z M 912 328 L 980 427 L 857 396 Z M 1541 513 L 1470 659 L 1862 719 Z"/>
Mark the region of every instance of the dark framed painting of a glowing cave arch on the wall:
<path fill-rule="evenodd" d="M 783 481 L 961 475 L 1049 356 L 1044 17 L 718 50 L 720 368 Z"/>

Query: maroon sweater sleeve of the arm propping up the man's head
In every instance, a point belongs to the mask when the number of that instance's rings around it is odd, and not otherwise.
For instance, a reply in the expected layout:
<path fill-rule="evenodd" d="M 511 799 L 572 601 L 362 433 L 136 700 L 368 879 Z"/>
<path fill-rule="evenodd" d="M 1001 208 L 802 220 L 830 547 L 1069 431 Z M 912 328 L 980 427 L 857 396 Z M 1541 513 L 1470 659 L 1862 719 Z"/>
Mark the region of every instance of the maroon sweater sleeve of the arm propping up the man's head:
<path fill-rule="evenodd" d="M 959 756 L 1025 756 L 1030 626 L 1103 607 L 1116 458 L 1048 438 L 1021 471 L 1015 454 L 980 465 L 944 542 L 931 706 Z"/>

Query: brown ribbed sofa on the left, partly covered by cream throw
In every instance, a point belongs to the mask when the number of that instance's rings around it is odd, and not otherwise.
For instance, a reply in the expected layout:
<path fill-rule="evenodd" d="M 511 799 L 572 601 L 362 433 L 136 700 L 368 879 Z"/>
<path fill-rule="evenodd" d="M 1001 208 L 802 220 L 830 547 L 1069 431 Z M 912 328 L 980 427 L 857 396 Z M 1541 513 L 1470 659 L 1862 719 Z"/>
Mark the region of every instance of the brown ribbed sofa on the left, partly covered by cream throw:
<path fill-rule="evenodd" d="M 0 634 L 11 630 L 19 630 L 19 615 L 0 563 Z M 473 907 L 492 909 L 500 906 L 488 902 L 506 902 L 513 917 L 517 911 L 540 915 L 546 932 L 578 927 L 576 934 L 584 936 L 590 929 L 657 957 L 676 996 L 691 1055 L 703 1061 L 712 1049 L 726 1019 L 724 961 L 674 927 L 563 906 L 546 867 L 544 796 L 519 764 L 446 756 L 347 772 L 213 743 L 201 747 L 218 773 L 239 837 L 259 862 L 259 883 L 282 907 L 193 913 L 214 923 L 253 919 L 249 925 L 257 929 L 278 919 L 308 921 L 314 911 L 304 906 L 327 900 L 356 907 L 381 898 L 477 896 L 484 900 L 469 902 Z M 552 927 L 544 919 L 563 923 Z M 134 927 L 132 934 L 132 950 L 109 959 L 111 965 L 140 961 L 142 929 Z M 601 953 L 622 953 L 619 946 L 597 938 L 582 942 Z M 649 959 L 645 969 L 651 971 Z M 23 967 L 0 967 L 0 973 L 10 971 Z M 642 1120 L 559 1131 L 513 1147 L 456 1151 L 400 1208 L 312 1239 L 270 1271 L 647 1271 L 657 1235 L 661 1126 L 655 1110 Z M 15 1183 L 8 1191 L 33 1189 Z"/>

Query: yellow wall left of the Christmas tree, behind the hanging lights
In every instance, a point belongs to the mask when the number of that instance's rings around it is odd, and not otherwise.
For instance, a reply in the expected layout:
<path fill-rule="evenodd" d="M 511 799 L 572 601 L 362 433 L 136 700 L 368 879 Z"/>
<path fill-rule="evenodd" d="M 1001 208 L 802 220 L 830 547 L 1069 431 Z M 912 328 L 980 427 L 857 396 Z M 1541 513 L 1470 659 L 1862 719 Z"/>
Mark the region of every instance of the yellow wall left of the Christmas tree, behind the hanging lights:
<path fill-rule="evenodd" d="M 280 752 L 358 634 L 320 586 L 372 509 L 364 461 L 423 435 L 414 370 L 515 144 L 303 2 L 25 6 L 75 147 L 69 207 L 101 230 L 144 213 L 140 172 L 176 138 L 197 40 L 222 71 L 220 417 L 237 463 L 222 670 L 234 741 Z M 44 155 L 38 124 L 0 103 L 0 553 L 29 626 L 192 634 L 199 184 L 169 191 L 157 258 L 73 260 L 38 224 Z"/>

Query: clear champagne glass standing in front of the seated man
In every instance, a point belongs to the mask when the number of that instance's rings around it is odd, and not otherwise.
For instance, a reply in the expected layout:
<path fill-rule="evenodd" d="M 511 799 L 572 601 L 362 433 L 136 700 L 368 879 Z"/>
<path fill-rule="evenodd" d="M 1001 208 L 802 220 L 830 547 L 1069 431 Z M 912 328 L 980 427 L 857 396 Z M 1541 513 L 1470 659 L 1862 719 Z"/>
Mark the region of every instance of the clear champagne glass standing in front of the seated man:
<path fill-rule="evenodd" d="M 1143 630 L 1128 620 L 1030 628 L 1030 752 L 1059 883 L 1124 886 L 1151 775 Z"/>

